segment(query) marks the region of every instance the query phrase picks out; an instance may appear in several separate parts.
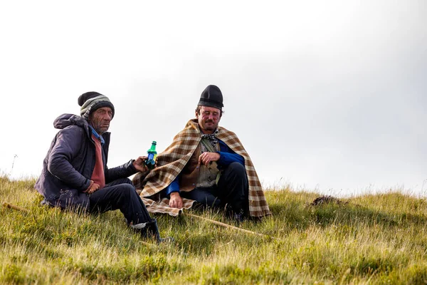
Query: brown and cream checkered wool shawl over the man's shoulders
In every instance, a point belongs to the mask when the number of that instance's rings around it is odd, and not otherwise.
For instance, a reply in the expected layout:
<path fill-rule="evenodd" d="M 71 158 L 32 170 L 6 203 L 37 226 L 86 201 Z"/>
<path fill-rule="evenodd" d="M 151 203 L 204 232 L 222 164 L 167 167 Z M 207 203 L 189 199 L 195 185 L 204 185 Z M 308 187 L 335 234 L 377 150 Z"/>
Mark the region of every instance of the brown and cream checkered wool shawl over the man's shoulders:
<path fill-rule="evenodd" d="M 222 127 L 218 127 L 216 138 L 225 142 L 231 150 L 245 159 L 246 174 L 249 182 L 249 214 L 252 217 L 263 217 L 270 214 L 270 209 L 265 200 L 263 188 L 253 167 L 251 157 L 249 157 L 241 141 L 235 133 Z M 166 198 L 154 200 L 153 195 L 164 190 L 174 181 L 189 161 L 191 155 L 193 155 L 200 140 L 201 132 L 197 120 L 189 120 L 184 130 L 181 130 L 174 137 L 172 144 L 157 156 L 158 167 L 149 172 L 146 177 L 142 172 L 135 175 L 133 183 L 137 190 L 141 190 L 140 196 L 149 212 L 167 213 L 176 216 L 182 210 L 169 207 L 169 200 Z M 193 200 L 183 199 L 183 208 L 189 209 L 194 202 Z"/>

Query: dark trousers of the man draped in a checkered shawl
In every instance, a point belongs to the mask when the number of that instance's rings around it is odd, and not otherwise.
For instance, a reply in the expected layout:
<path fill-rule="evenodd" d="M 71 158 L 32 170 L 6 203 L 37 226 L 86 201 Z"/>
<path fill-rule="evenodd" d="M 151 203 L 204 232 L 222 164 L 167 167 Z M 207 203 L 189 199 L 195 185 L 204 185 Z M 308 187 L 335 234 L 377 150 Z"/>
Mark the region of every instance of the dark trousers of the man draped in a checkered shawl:
<path fill-rule="evenodd" d="M 249 208 L 249 185 L 246 170 L 238 162 L 232 162 L 221 173 L 218 185 L 195 188 L 181 192 L 181 197 L 196 200 L 204 207 L 227 207 L 234 213 L 247 215 Z"/>

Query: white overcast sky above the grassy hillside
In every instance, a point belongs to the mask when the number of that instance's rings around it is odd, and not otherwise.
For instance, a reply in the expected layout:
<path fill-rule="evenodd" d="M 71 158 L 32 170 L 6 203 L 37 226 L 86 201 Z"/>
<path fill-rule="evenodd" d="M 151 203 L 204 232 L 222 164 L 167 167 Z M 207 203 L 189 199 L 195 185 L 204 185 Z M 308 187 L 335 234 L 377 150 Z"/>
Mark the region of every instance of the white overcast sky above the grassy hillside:
<path fill-rule="evenodd" d="M 264 185 L 426 191 L 427 1 L 1 1 L 0 36 L 11 177 L 40 174 L 81 93 L 115 105 L 114 167 L 164 150 L 215 84 Z"/>

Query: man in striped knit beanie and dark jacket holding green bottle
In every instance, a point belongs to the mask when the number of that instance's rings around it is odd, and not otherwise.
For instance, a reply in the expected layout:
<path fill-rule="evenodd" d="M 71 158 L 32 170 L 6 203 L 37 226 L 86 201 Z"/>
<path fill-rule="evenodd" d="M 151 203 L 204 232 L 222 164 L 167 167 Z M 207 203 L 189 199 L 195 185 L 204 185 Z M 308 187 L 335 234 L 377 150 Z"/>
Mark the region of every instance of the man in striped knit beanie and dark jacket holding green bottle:
<path fill-rule="evenodd" d="M 158 242 L 157 221 L 149 217 L 134 185 L 127 178 L 148 172 L 147 157 L 138 157 L 115 168 L 107 167 L 110 121 L 115 108 L 107 96 L 88 92 L 78 98 L 80 116 L 63 114 L 53 125 L 60 129 L 43 161 L 36 189 L 43 204 L 61 209 L 107 212 L 120 209 L 127 223 L 142 236 Z"/>

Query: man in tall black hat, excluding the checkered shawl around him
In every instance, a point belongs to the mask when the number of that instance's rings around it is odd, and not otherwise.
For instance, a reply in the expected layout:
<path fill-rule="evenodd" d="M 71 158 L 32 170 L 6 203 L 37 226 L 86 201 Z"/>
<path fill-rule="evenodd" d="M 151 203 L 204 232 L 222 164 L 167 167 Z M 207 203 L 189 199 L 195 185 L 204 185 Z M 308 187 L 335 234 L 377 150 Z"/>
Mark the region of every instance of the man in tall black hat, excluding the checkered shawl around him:
<path fill-rule="evenodd" d="M 166 194 L 170 197 L 170 207 L 181 208 L 181 197 L 184 197 L 205 207 L 227 205 L 228 212 L 241 220 L 248 214 L 248 179 L 243 157 L 216 138 L 222 108 L 221 90 L 214 85 L 206 87 L 201 93 L 195 112 L 201 131 L 201 142 L 199 149 L 194 152 L 194 157 L 190 158 L 190 162 L 194 162 L 187 164 L 183 170 L 184 173 L 196 171 L 196 183 L 183 173 L 169 185 Z M 194 189 L 181 192 L 180 184 L 186 187 L 190 180 L 190 186 L 195 184 Z"/>

